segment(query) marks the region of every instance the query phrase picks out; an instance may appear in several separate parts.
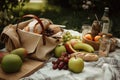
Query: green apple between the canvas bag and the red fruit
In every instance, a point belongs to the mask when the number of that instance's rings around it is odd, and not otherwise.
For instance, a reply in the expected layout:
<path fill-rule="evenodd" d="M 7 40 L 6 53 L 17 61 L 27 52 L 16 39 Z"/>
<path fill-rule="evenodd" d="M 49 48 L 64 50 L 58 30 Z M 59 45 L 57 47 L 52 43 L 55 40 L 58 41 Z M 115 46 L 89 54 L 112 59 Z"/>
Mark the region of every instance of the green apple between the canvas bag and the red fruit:
<path fill-rule="evenodd" d="M 63 52 L 66 52 L 66 48 L 64 45 L 57 45 L 54 51 L 55 57 L 60 57 Z"/>

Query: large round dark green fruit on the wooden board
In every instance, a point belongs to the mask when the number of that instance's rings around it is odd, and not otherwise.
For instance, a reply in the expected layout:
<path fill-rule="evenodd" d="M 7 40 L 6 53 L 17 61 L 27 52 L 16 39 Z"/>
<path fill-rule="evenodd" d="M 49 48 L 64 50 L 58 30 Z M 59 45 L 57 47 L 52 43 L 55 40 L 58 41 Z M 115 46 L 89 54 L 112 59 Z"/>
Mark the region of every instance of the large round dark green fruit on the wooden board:
<path fill-rule="evenodd" d="M 6 73 L 14 73 L 21 69 L 22 60 L 18 55 L 7 54 L 1 61 L 1 68 Z"/>

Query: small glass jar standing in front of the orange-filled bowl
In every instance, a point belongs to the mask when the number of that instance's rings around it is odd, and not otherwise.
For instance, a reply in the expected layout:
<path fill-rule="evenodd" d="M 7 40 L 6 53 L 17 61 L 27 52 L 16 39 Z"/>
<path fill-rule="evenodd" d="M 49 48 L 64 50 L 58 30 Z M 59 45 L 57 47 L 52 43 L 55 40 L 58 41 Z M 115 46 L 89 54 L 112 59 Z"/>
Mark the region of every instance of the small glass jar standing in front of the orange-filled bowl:
<path fill-rule="evenodd" d="M 100 46 L 98 55 L 99 57 L 107 57 L 110 51 L 111 40 L 108 37 L 102 37 L 100 39 Z"/>

